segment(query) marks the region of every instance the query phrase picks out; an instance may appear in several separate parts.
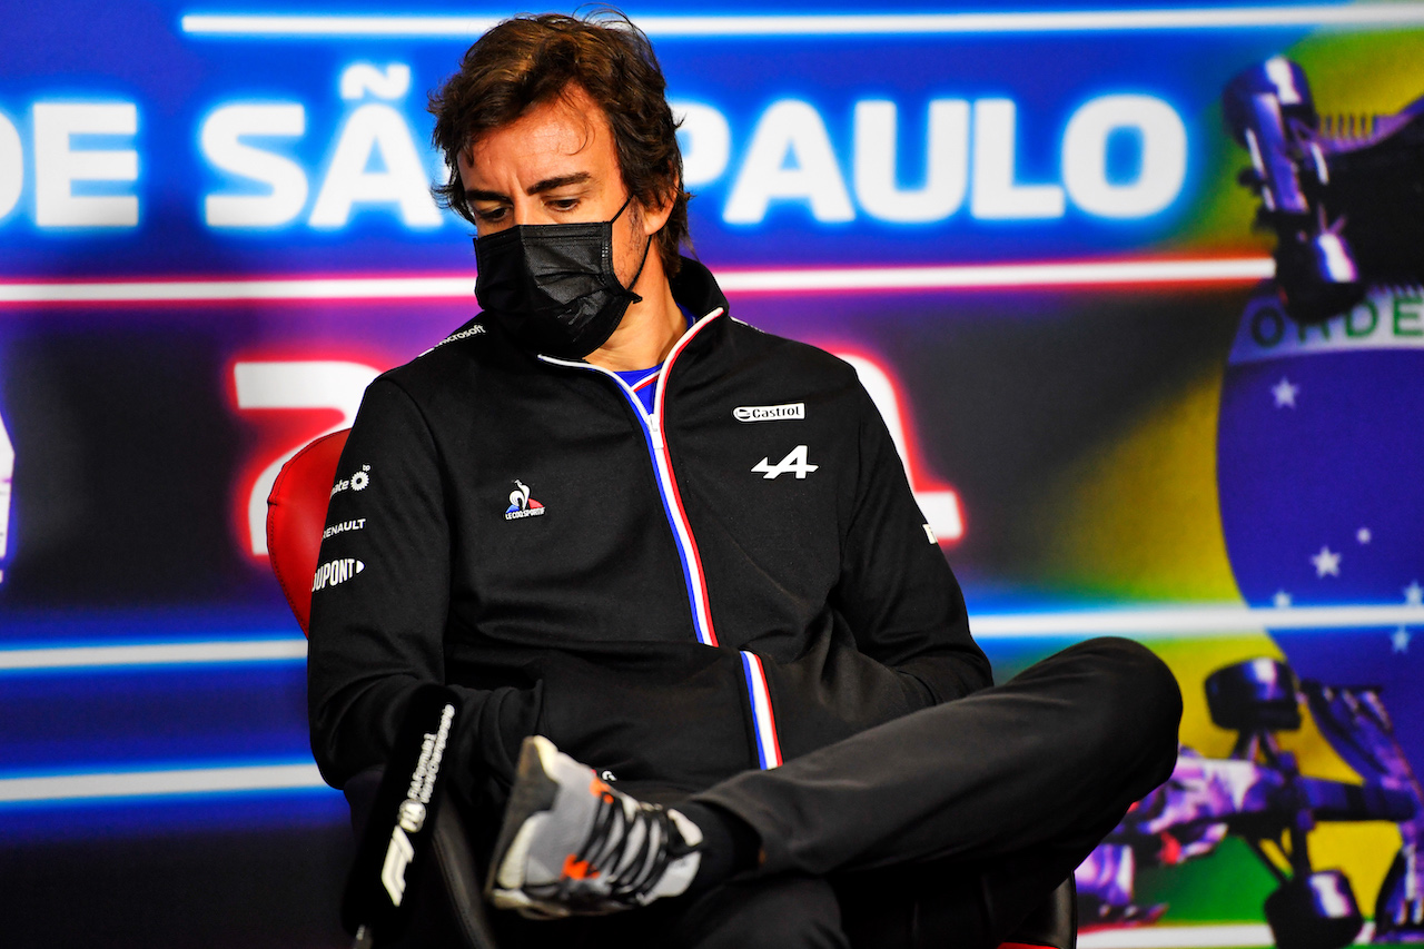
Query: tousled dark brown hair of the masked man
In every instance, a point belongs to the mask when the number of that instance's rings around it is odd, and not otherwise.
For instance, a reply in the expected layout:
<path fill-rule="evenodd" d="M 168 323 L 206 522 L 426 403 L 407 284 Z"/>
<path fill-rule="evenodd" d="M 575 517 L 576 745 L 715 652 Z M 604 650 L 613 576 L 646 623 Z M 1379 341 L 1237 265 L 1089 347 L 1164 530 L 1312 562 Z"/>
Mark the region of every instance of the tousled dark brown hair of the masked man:
<path fill-rule="evenodd" d="M 674 195 L 672 215 L 658 232 L 668 276 L 678 272 L 678 247 L 688 237 L 688 192 L 682 188 L 666 80 L 642 30 L 611 13 L 578 20 L 557 13 L 506 20 L 480 37 L 460 71 L 430 95 L 431 141 L 444 152 L 450 180 L 434 188 L 441 205 L 466 221 L 474 212 L 460 184 L 457 157 L 484 133 L 501 128 L 530 107 L 580 85 L 604 110 L 628 194 L 645 207 Z"/>

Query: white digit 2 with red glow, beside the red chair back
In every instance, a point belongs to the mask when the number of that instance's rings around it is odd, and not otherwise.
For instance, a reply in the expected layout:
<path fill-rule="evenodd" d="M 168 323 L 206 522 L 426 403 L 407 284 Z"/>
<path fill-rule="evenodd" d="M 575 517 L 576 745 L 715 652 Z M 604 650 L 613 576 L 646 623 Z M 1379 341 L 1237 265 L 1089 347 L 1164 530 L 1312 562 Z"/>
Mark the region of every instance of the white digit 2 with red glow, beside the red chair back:
<path fill-rule="evenodd" d="M 336 409 L 342 420 L 310 435 L 262 466 L 246 500 L 248 549 L 266 556 L 266 497 L 288 459 L 309 442 L 350 427 L 360 408 L 362 393 L 379 369 L 360 362 L 239 362 L 232 366 L 238 410 L 263 409 Z"/>

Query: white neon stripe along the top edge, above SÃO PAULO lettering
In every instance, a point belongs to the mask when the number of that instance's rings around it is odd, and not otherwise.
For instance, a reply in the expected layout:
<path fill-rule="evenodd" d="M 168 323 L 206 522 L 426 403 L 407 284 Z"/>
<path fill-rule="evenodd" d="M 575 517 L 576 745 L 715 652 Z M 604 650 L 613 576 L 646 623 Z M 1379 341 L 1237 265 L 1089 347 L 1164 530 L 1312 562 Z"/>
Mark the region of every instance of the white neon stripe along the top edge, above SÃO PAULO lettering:
<path fill-rule="evenodd" d="M 429 37 L 473 38 L 496 17 L 316 16 L 191 13 L 182 31 L 214 37 Z M 1166 10 L 1059 10 L 1005 13 L 881 13 L 803 16 L 641 16 L 654 38 L 975 36 L 1018 33 L 1124 33 L 1263 27 L 1390 27 L 1424 23 L 1415 3 L 1178 7 Z"/>

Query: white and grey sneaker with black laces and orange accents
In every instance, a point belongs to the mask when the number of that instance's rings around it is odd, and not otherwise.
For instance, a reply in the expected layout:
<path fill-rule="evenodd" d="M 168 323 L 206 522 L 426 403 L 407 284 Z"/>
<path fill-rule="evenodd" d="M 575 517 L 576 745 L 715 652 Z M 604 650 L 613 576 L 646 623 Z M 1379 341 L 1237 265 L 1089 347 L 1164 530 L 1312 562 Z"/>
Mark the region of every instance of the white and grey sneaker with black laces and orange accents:
<path fill-rule="evenodd" d="M 702 831 L 608 787 L 548 738 L 520 748 L 486 896 L 531 919 L 602 915 L 686 891 Z"/>

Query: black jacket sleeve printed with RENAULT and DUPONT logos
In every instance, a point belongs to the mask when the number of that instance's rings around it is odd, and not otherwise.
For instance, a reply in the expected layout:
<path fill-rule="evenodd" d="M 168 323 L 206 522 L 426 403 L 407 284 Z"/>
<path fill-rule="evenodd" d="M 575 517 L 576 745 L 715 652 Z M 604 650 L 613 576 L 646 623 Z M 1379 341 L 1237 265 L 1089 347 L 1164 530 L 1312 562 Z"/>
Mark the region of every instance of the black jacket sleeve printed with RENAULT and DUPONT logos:
<path fill-rule="evenodd" d="M 312 591 L 308 714 L 322 775 L 384 764 L 412 694 L 444 684 L 447 492 L 430 429 L 389 379 L 366 390 L 336 470 Z M 533 734 L 531 690 L 457 687 L 451 775 L 467 802 L 508 787 Z"/>

